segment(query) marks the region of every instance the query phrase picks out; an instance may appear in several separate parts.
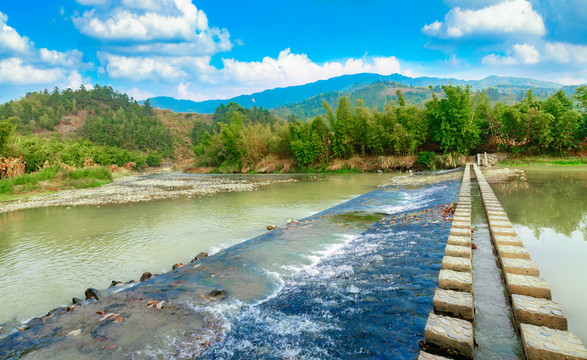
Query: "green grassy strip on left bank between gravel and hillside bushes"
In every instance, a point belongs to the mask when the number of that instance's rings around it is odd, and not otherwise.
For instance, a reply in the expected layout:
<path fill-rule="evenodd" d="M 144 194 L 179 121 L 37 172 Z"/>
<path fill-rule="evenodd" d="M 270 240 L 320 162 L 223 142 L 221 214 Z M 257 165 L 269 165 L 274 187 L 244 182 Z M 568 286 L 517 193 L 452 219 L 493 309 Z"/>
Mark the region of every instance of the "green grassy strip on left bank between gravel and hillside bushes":
<path fill-rule="evenodd" d="M 112 182 L 112 173 L 106 167 L 76 170 L 48 167 L 33 174 L 0 180 L 0 201 L 16 200 L 58 190 L 98 187 L 110 182 Z"/>

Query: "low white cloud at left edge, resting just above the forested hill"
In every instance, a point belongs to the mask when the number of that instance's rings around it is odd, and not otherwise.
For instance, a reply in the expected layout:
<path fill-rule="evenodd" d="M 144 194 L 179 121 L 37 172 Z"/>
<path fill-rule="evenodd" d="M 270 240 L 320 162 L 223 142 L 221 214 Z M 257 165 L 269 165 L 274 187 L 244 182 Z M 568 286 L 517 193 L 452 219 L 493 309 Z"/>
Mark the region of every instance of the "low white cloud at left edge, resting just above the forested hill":
<path fill-rule="evenodd" d="M 40 69 L 23 64 L 22 59 L 0 61 L 0 84 L 48 84 L 65 78 L 62 69 Z"/>

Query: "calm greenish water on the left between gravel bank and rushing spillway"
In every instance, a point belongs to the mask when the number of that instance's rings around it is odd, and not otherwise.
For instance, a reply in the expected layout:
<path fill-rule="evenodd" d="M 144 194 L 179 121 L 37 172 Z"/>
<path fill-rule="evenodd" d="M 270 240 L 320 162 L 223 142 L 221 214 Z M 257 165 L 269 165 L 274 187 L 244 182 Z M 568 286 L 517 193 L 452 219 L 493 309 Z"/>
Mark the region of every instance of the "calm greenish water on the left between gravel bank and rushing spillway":
<path fill-rule="evenodd" d="M 259 176 L 245 176 L 245 178 Z M 0 214 L 0 325 L 71 304 L 86 288 L 169 271 L 371 191 L 389 175 L 268 175 L 257 191 Z"/>

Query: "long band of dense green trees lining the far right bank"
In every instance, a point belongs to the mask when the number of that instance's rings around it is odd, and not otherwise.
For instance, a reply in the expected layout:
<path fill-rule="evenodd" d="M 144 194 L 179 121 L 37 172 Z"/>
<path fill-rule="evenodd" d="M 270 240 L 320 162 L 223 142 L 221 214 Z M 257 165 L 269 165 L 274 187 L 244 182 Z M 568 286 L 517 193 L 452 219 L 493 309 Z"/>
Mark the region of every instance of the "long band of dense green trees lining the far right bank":
<path fill-rule="evenodd" d="M 322 113 L 301 122 L 259 117 L 259 109 L 237 104 L 217 109 L 214 124 L 194 126 L 197 165 L 220 172 L 267 168 L 267 159 L 291 160 L 292 170 L 338 170 L 355 157 L 413 156 L 422 168 L 456 166 L 462 155 L 481 149 L 516 154 L 566 155 L 585 141 L 587 106 L 585 88 L 578 88 L 574 103 L 562 90 L 545 100 L 528 91 L 515 105 L 491 106 L 486 92 L 470 87 L 429 89 L 424 107 L 409 105 L 401 90 L 383 111 L 340 98 L 333 110 L 322 102 Z M 261 109 L 262 111 L 262 109 Z M 443 153 L 438 159 L 430 150 Z M 337 166 L 333 161 L 344 160 Z M 354 160 L 356 163 L 357 161 Z"/>

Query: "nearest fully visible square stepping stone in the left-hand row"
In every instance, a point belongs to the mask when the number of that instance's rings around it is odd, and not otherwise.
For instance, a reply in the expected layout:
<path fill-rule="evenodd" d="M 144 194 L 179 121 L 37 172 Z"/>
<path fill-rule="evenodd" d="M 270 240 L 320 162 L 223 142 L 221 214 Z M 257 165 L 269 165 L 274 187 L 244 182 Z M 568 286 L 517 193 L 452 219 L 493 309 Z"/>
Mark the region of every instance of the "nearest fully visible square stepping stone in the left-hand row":
<path fill-rule="evenodd" d="M 430 314 L 424 328 L 426 345 L 451 357 L 473 359 L 473 324 L 448 316 Z"/>

